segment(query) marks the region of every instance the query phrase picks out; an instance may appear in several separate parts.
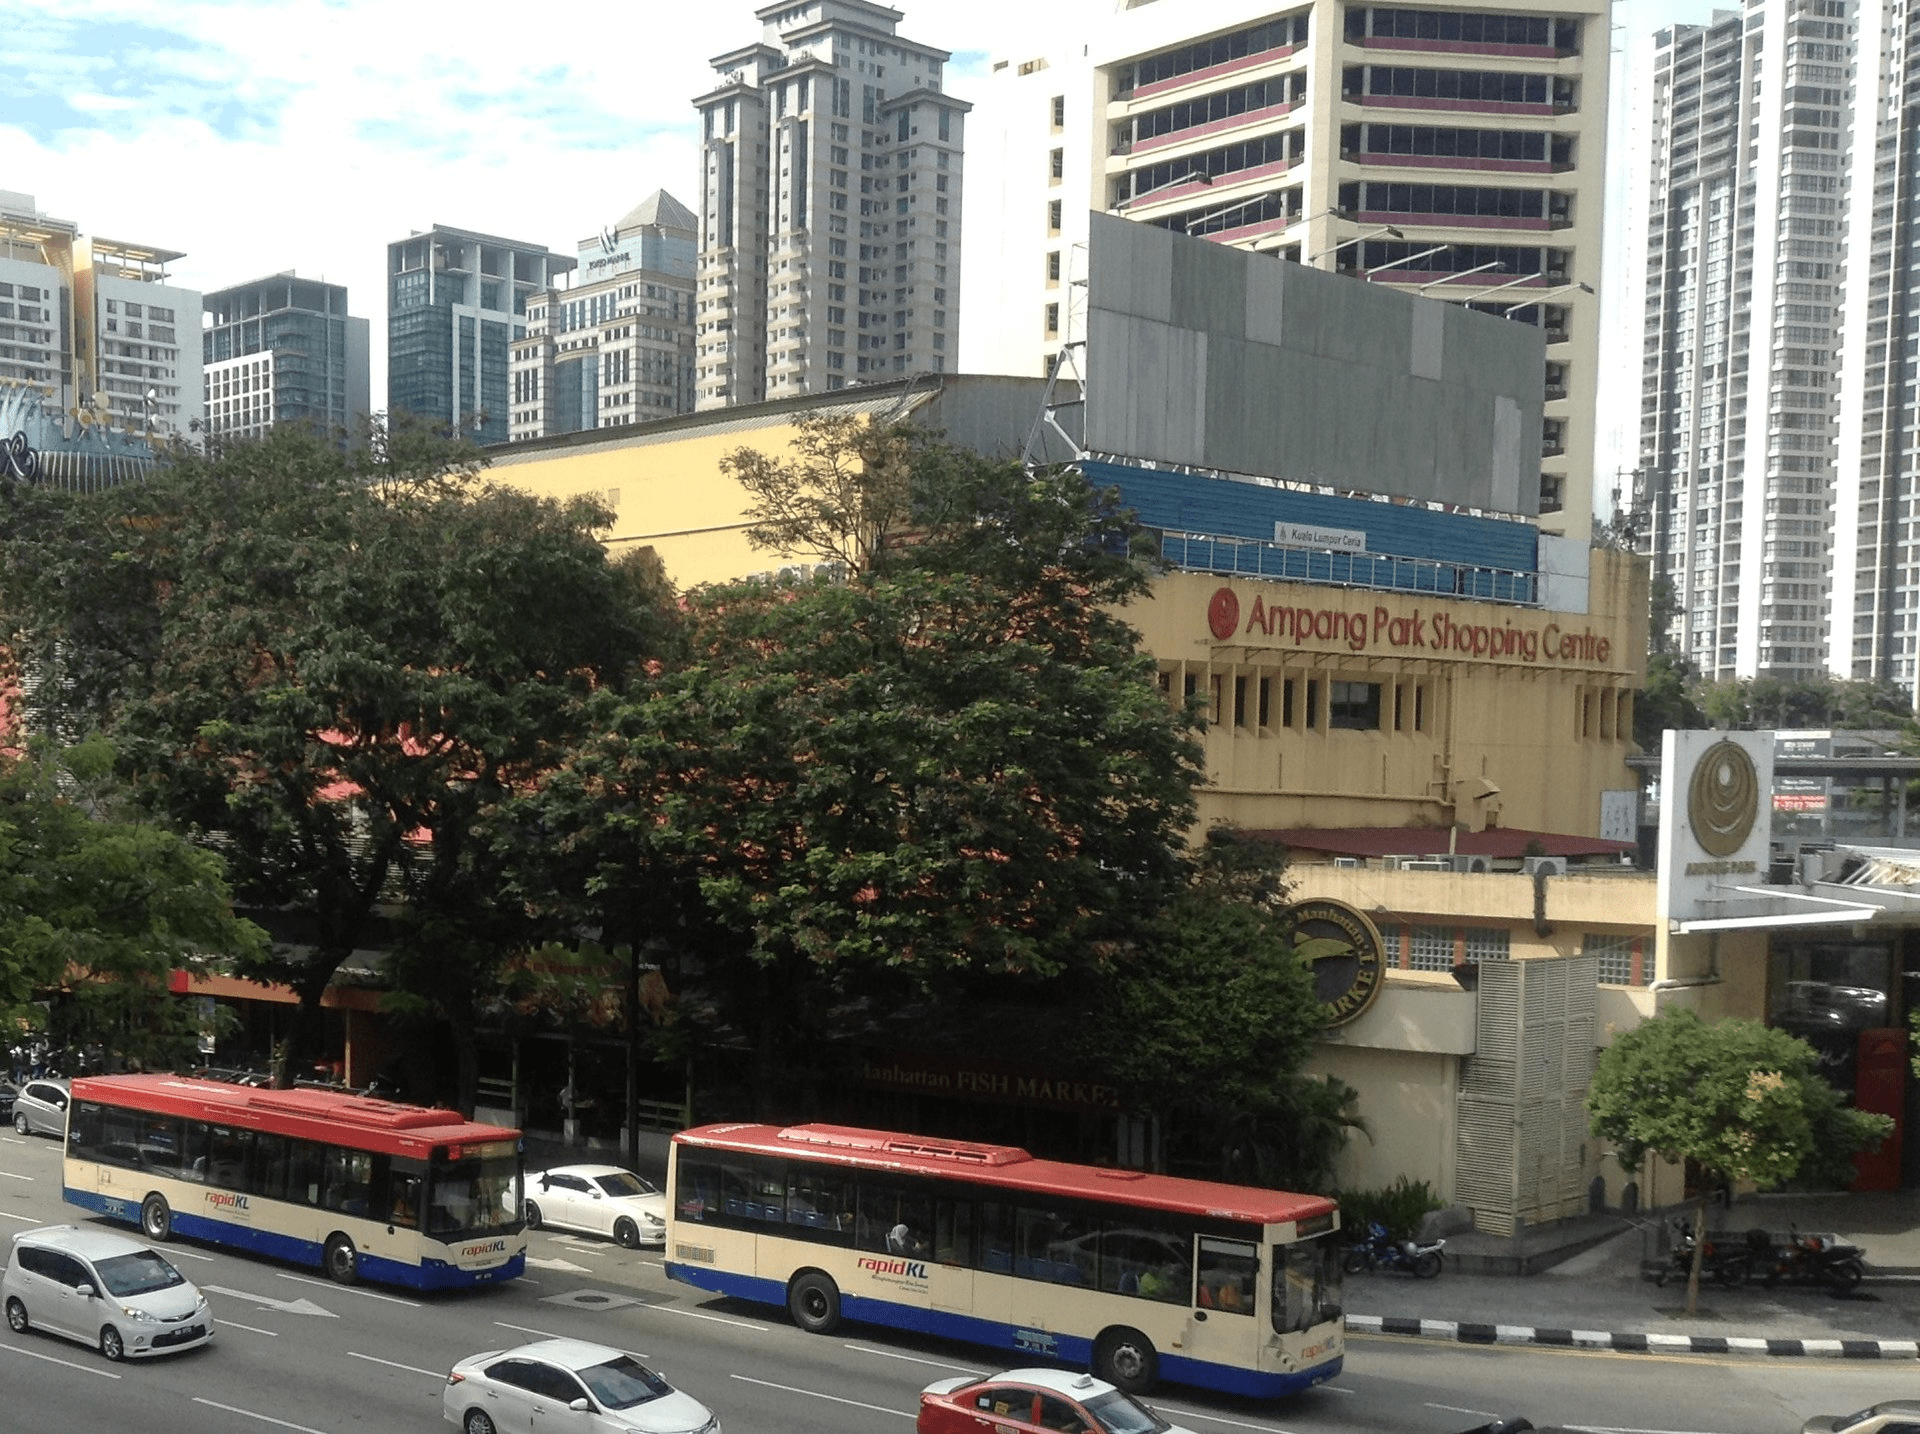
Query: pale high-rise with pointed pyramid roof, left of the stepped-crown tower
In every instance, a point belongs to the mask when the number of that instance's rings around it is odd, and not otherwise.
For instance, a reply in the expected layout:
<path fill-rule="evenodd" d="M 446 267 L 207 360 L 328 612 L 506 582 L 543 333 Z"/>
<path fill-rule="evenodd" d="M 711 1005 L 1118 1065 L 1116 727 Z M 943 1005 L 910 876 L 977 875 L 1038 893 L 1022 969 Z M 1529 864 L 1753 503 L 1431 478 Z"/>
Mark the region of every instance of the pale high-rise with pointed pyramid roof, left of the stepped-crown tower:
<path fill-rule="evenodd" d="M 570 288 L 528 299 L 526 336 L 513 342 L 511 442 L 693 411 L 697 225 L 655 190 L 580 242 Z"/>

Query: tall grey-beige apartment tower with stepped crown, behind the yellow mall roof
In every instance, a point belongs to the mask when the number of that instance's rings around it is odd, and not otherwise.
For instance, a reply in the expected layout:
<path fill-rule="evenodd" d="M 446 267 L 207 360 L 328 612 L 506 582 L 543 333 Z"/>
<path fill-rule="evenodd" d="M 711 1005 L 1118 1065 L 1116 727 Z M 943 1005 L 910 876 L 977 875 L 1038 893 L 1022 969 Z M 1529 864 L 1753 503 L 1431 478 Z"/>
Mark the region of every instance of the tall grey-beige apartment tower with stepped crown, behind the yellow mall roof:
<path fill-rule="evenodd" d="M 947 50 L 872 0 L 756 10 L 701 111 L 697 407 L 958 369 L 960 163 Z"/>

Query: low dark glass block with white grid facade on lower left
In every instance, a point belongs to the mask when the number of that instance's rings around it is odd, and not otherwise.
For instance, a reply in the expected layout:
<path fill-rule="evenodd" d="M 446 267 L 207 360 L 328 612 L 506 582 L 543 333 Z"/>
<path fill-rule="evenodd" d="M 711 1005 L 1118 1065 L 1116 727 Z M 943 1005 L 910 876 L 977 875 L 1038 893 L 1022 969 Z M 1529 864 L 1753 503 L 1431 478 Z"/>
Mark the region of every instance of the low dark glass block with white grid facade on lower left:
<path fill-rule="evenodd" d="M 369 415 L 369 346 L 346 284 L 280 273 L 207 294 L 207 434 L 261 438 L 275 424 L 307 422 L 353 442 Z"/>

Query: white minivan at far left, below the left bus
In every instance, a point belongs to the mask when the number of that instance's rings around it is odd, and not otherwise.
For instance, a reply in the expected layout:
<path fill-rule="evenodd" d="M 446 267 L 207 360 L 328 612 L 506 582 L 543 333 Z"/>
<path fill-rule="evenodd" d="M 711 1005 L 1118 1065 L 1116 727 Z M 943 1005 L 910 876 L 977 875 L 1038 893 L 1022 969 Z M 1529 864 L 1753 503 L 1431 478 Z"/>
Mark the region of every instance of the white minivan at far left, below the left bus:
<path fill-rule="evenodd" d="M 13 1236 L 0 1302 L 15 1334 L 44 1328 L 108 1359 L 198 1350 L 213 1311 L 157 1250 L 111 1231 L 46 1225 Z"/>

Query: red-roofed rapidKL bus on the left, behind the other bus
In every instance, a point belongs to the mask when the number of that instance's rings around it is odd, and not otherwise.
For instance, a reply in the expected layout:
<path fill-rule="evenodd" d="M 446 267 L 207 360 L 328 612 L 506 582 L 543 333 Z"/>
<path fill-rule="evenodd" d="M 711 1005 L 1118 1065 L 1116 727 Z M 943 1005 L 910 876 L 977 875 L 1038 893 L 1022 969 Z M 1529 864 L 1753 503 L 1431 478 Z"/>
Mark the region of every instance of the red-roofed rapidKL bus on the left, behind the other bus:
<path fill-rule="evenodd" d="M 526 1271 L 520 1133 L 340 1090 L 180 1075 L 73 1083 L 65 1198 L 138 1225 L 420 1290 Z"/>

